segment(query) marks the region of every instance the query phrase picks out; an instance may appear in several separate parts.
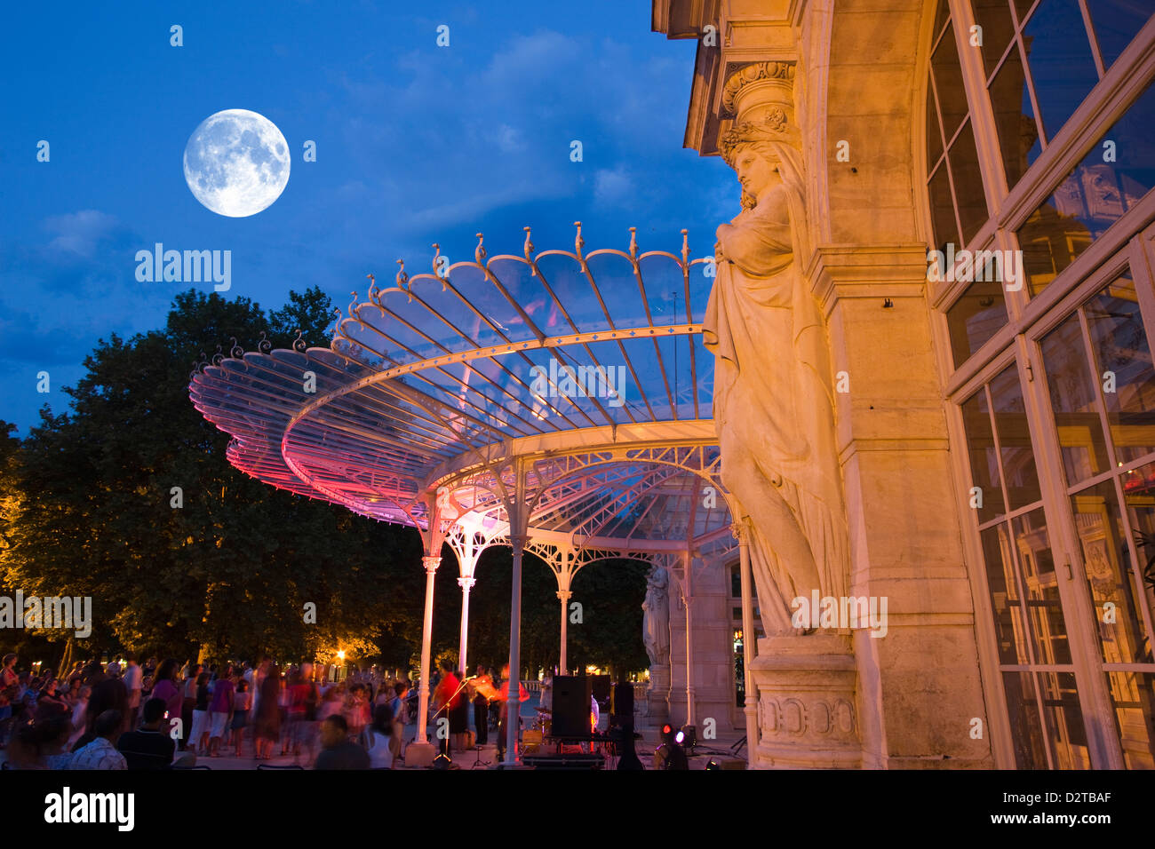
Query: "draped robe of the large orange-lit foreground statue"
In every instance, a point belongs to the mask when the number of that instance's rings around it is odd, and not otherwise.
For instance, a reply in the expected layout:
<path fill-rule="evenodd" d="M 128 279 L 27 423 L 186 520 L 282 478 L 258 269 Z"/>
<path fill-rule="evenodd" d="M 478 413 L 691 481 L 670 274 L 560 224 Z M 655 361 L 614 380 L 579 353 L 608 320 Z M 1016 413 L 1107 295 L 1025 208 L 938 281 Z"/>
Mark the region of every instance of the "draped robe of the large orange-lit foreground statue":
<path fill-rule="evenodd" d="M 790 164 L 783 184 L 718 229 L 723 259 L 702 327 L 715 353 L 722 479 L 752 520 L 751 563 L 767 634 L 791 631 L 793 597 L 814 589 L 845 595 L 848 571 L 826 332 L 795 263 L 805 244 L 805 209 Z M 767 508 L 774 491 L 789 513 Z M 790 521 L 808 544 L 817 587 L 797 586 L 784 546 L 776 549 Z"/>

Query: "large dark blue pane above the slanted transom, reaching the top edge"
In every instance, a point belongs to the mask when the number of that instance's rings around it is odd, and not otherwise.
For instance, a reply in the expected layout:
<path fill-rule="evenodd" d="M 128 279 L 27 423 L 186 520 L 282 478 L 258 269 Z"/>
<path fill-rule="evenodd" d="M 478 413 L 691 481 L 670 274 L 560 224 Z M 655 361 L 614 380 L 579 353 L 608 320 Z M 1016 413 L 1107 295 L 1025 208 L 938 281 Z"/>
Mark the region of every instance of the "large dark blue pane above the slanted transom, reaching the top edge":
<path fill-rule="evenodd" d="M 1023 28 L 1022 46 L 1050 141 L 1098 82 L 1078 0 L 1042 0 Z"/>

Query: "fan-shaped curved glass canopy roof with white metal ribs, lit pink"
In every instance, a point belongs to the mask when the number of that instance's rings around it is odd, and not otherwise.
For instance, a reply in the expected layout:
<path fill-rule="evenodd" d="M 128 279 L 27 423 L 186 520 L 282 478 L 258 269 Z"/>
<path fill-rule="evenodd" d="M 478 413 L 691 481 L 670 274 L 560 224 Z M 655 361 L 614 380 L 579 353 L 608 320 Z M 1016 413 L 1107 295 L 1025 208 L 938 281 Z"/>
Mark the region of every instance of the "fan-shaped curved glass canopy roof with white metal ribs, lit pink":
<path fill-rule="evenodd" d="M 371 284 L 328 349 L 232 351 L 192 375 L 229 460 L 374 519 L 427 523 L 423 496 L 505 520 L 493 461 L 530 457 L 530 534 L 606 548 L 729 531 L 701 344 L 706 260 L 603 250 L 486 258 Z M 437 246 L 434 246 L 437 248 Z M 400 262 L 400 261 L 398 261 Z M 705 476 L 705 477 L 703 477 Z M 705 506 L 715 504 L 715 506 Z"/>

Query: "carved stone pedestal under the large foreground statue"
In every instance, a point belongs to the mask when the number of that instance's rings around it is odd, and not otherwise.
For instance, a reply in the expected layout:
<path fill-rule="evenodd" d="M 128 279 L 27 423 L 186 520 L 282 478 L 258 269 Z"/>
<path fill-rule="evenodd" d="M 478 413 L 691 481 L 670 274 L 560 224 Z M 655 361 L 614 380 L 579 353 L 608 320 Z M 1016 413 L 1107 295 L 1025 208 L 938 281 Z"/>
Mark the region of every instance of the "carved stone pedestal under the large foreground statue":
<path fill-rule="evenodd" d="M 811 634 L 758 641 L 758 769 L 858 769 L 862 740 L 849 636 Z"/>

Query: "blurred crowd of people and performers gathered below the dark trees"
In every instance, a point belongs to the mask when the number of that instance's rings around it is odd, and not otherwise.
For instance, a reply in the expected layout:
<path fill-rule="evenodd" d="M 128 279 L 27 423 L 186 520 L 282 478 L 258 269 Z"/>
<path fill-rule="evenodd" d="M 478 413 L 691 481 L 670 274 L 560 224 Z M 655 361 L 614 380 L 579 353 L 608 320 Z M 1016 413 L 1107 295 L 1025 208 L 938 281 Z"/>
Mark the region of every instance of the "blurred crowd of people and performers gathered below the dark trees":
<path fill-rule="evenodd" d="M 500 752 L 507 668 L 501 678 L 495 686 L 480 666 L 459 678 L 452 663 L 441 664 L 429 718 L 434 732 L 448 720 L 449 735 L 435 735 L 442 751 L 484 745 L 495 728 Z M 5 768 L 16 769 L 161 769 L 276 753 L 318 769 L 392 768 L 403 762 L 404 727 L 417 709 L 409 678 L 377 668 L 333 682 L 323 668 L 269 657 L 206 668 L 171 658 L 141 665 L 127 655 L 124 664 L 79 662 L 58 676 L 18 671 L 8 654 L 0 669 L 0 749 Z"/>

